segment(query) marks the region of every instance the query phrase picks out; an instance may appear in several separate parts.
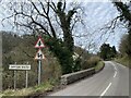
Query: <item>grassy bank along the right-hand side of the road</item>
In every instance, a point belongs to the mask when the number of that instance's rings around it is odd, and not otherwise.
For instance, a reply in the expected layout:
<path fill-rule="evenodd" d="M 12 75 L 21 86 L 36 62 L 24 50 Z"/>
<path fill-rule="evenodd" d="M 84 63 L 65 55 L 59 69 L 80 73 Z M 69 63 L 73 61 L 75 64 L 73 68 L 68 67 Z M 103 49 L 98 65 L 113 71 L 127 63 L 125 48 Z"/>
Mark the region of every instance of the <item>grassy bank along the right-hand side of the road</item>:
<path fill-rule="evenodd" d="M 115 59 L 115 61 L 118 63 L 121 63 L 122 65 L 131 68 L 131 64 L 130 64 L 131 59 L 129 59 L 128 56 L 124 56 L 122 58 L 117 58 Z"/>

